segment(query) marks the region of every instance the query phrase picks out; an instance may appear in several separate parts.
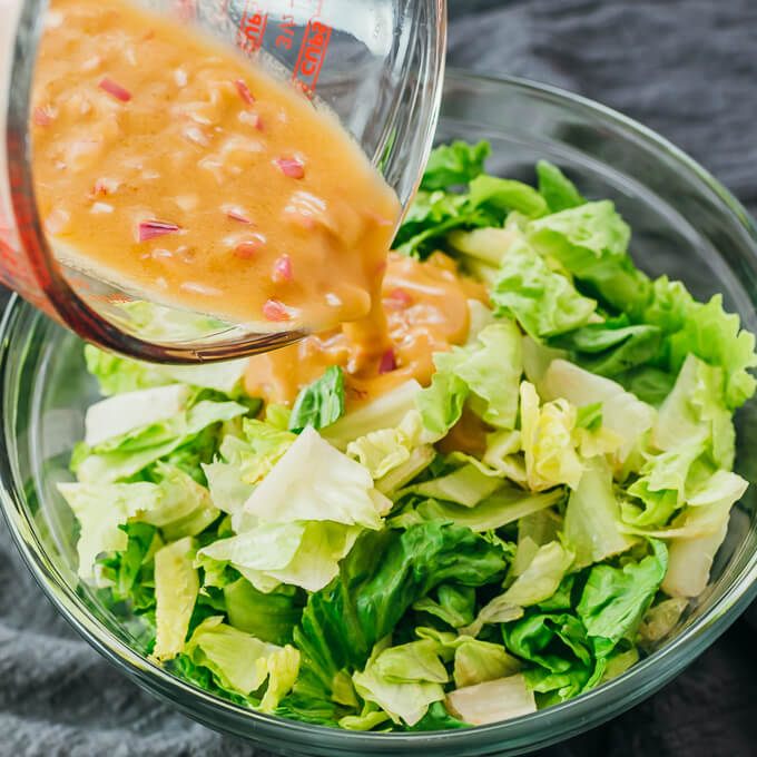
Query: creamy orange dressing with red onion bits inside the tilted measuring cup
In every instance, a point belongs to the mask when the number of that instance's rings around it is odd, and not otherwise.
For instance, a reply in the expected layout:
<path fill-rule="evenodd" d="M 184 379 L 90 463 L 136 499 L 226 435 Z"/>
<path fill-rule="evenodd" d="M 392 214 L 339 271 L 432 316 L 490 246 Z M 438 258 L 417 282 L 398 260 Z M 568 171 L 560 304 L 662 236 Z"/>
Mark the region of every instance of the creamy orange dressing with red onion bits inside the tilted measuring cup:
<path fill-rule="evenodd" d="M 31 128 L 61 259 L 236 323 L 322 331 L 370 313 L 400 205 L 333 117 L 129 4 L 51 8 Z"/>

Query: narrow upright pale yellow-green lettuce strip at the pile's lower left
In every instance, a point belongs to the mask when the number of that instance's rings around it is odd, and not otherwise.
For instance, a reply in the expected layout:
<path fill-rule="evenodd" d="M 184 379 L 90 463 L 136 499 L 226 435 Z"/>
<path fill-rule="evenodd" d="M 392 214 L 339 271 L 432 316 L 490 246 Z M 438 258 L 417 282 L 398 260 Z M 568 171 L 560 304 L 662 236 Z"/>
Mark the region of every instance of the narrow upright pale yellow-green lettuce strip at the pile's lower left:
<path fill-rule="evenodd" d="M 194 552 L 194 541 L 186 537 L 155 553 L 156 638 L 153 653 L 158 660 L 170 660 L 184 650 L 199 592 Z"/>

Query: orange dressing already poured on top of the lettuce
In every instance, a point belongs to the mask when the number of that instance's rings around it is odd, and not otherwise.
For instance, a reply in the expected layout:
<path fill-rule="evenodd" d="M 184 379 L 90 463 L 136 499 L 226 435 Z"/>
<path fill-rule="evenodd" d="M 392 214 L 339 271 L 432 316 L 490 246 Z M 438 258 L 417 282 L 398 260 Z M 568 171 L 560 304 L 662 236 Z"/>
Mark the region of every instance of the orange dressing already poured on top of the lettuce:
<path fill-rule="evenodd" d="M 468 337 L 471 297 L 485 302 L 485 288 L 461 278 L 445 255 L 436 253 L 420 263 L 390 253 L 373 328 L 370 322 L 361 327 L 346 324 L 255 355 L 245 389 L 266 402 L 292 405 L 299 390 L 330 365 L 344 368 L 348 404 L 375 399 L 410 378 L 427 385 L 433 353 Z"/>

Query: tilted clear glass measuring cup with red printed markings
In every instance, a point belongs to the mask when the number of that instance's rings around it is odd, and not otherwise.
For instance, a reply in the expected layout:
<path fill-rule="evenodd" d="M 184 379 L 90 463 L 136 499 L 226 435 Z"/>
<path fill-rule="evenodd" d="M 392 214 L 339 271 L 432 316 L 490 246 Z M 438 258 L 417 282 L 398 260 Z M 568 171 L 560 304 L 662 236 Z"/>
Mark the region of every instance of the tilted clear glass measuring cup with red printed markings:
<path fill-rule="evenodd" d="M 326 106 L 406 207 L 439 111 L 445 0 L 132 1 L 236 47 Z M 0 282 L 82 338 L 139 360 L 222 360 L 303 336 L 146 309 L 132 294 L 56 260 L 35 201 L 28 131 L 37 45 L 51 22 L 46 10 L 46 0 L 0 0 Z"/>

